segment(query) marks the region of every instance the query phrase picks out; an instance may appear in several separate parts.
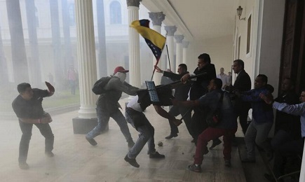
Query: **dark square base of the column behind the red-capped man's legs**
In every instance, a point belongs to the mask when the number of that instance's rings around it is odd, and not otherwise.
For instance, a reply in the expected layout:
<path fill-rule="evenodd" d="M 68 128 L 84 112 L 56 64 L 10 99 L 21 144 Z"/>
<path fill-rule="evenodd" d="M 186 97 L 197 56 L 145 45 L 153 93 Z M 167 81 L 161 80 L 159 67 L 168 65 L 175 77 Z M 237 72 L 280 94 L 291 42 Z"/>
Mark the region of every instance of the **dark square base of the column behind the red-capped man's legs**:
<path fill-rule="evenodd" d="M 73 118 L 73 132 L 74 134 L 87 134 L 97 125 L 97 118 Z M 103 132 L 109 130 L 109 125 L 105 128 Z"/>

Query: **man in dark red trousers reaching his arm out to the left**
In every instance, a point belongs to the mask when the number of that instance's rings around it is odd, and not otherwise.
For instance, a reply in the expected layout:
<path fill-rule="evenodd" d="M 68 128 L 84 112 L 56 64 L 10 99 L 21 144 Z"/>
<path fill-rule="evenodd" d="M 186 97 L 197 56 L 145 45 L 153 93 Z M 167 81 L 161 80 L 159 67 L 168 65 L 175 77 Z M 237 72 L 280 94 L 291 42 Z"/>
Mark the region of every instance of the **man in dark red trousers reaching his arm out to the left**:
<path fill-rule="evenodd" d="M 189 165 L 188 169 L 193 172 L 201 172 L 203 155 L 207 154 L 208 141 L 224 136 L 224 163 L 226 167 L 231 166 L 231 139 L 237 130 L 236 116 L 233 112 L 233 106 L 229 94 L 222 91 L 222 80 L 213 78 L 208 85 L 209 92 L 194 101 L 176 101 L 172 104 L 177 106 L 204 106 L 210 110 L 207 121 L 211 120 L 217 113 L 219 123 L 214 127 L 208 127 L 198 136 L 194 164 Z"/>

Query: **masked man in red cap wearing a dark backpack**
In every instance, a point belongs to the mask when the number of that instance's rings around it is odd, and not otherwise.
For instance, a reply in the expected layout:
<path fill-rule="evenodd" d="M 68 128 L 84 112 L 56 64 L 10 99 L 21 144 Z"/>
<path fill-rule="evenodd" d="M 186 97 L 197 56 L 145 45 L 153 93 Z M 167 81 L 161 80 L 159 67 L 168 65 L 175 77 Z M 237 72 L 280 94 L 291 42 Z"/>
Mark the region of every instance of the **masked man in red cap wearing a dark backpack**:
<path fill-rule="evenodd" d="M 139 90 L 139 88 L 126 83 L 127 72 L 128 70 L 124 69 L 122 66 L 117 66 L 116 69 L 114 69 L 113 76 L 101 78 L 100 80 L 97 80 L 93 86 L 93 90 L 99 90 L 98 94 L 100 94 L 96 103 L 97 126 L 86 134 L 87 141 L 93 146 L 97 145 L 97 142 L 93 138 L 106 128 L 110 117 L 118 123 L 121 132 L 126 138 L 128 147 L 131 148 L 135 144 L 131 137 L 126 119 L 118 109 L 121 108 L 120 104 L 118 104 L 118 100 L 121 98 L 122 92 L 129 95 L 136 95 Z"/>

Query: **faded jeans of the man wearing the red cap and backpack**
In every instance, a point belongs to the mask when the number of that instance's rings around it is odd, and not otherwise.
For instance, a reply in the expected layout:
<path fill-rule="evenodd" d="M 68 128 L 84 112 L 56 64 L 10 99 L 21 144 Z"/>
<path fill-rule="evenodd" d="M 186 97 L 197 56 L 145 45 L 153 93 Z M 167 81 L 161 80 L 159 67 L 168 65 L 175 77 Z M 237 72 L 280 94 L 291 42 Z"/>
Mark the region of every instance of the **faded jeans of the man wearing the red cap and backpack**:
<path fill-rule="evenodd" d="M 121 132 L 123 133 L 125 139 L 127 142 L 133 141 L 133 137 L 131 137 L 126 119 L 124 118 L 123 114 L 120 110 L 117 109 L 114 113 L 109 113 L 108 111 L 100 109 L 99 106 L 97 106 L 97 126 L 93 128 L 88 134 L 86 134 L 86 137 L 88 139 L 93 139 L 94 137 L 97 137 L 97 135 L 100 135 L 102 131 L 105 130 L 109 123 L 109 119 L 114 118 L 116 123 L 118 123 L 118 126 L 121 129 Z"/>

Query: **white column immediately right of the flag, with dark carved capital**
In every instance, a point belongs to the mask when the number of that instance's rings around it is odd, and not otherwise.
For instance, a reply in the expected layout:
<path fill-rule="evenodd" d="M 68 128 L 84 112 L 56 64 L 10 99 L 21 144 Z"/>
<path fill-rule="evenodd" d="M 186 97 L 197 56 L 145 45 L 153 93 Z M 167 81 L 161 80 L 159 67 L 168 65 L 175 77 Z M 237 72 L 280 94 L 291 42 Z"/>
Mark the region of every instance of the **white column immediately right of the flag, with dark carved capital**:
<path fill-rule="evenodd" d="M 175 72 L 174 64 L 174 34 L 177 31 L 176 26 L 165 26 L 167 32 L 166 41 L 168 43 L 168 57 L 170 57 L 170 64 L 168 63 L 168 69 L 171 69 L 172 72 Z"/>

